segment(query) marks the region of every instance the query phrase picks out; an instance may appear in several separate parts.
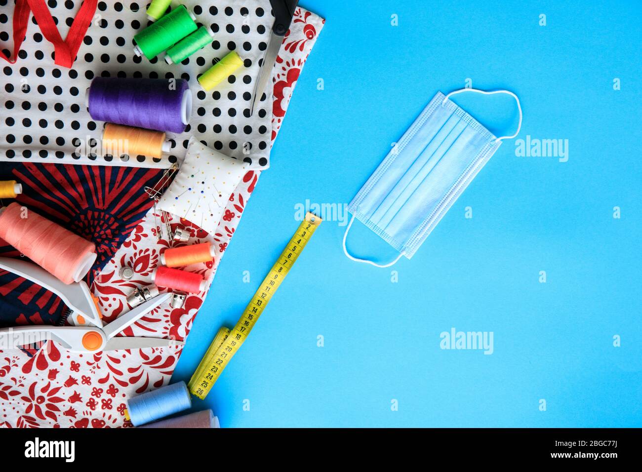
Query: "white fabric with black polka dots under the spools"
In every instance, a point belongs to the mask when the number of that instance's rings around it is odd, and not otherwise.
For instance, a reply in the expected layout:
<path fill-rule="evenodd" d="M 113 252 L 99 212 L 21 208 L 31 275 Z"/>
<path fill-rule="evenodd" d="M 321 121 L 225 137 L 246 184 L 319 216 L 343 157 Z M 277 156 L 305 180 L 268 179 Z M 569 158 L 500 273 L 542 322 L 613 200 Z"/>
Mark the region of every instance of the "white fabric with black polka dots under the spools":
<path fill-rule="evenodd" d="M 81 3 L 48 1 L 63 38 Z M 269 0 L 225 0 L 217 6 L 201 6 L 193 0 L 181 3 L 195 13 L 197 23 L 213 31 L 214 38 L 211 45 L 172 65 L 166 64 L 163 54 L 152 61 L 134 54 L 134 35 L 151 24 L 146 17 L 148 2 L 99 1 L 72 69 L 54 64 L 53 45 L 42 37 L 32 16 L 16 64 L 0 63 L 1 105 L 5 110 L 0 123 L 0 160 L 167 168 L 182 161 L 193 135 L 249 168 L 268 168 L 271 87 L 253 116 L 250 108 L 273 22 Z M 6 55 L 13 49 L 12 15 L 13 2 L 0 0 L 0 48 Z M 196 79 L 232 50 L 243 58 L 243 66 L 205 92 Z M 189 81 L 194 98 L 190 124 L 183 134 L 169 136 L 169 154 L 161 158 L 101 155 L 105 123 L 93 121 L 85 109 L 85 89 L 94 76 Z"/>

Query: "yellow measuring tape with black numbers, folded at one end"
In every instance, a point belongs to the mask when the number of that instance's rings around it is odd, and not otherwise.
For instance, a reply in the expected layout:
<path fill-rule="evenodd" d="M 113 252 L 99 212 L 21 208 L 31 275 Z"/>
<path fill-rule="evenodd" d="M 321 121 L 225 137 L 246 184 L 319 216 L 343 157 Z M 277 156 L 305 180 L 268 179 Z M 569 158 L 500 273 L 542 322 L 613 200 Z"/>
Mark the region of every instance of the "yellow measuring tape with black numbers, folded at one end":
<path fill-rule="evenodd" d="M 207 353 L 196 368 L 196 372 L 189 380 L 189 391 L 196 397 L 204 399 L 212 385 L 225 369 L 225 366 L 241 344 L 245 342 L 250 331 L 254 328 L 257 320 L 265 310 L 272 295 L 277 291 L 281 282 L 290 272 L 290 268 L 299 258 L 309 239 L 322 222 L 321 218 L 312 213 L 306 214 L 306 219 L 299 225 L 299 229 L 292 236 L 290 242 L 270 269 L 270 272 L 261 283 L 259 290 L 254 293 L 252 301 L 248 304 L 234 329 L 223 328 L 218 330 L 212 344 L 209 345 Z"/>

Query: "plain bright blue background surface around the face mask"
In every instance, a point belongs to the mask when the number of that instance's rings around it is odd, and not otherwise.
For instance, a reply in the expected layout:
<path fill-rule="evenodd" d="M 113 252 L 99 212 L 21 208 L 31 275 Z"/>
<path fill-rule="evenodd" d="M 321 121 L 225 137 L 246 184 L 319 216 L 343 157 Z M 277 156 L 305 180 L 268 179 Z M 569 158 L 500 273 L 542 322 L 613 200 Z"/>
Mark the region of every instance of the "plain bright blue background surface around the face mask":
<path fill-rule="evenodd" d="M 505 141 L 392 268 L 349 261 L 344 222 L 324 222 L 193 410 L 213 408 L 224 427 L 640 426 L 640 3 L 301 5 L 325 27 L 174 381 L 238 320 L 298 225 L 295 205 L 348 203 L 438 91 L 471 78 L 515 92 L 518 138 L 568 139 L 569 159 L 516 157 Z M 510 98 L 453 100 L 496 135 L 516 129 Z M 392 255 L 356 226 L 352 252 Z M 453 327 L 493 331 L 494 353 L 440 349 Z"/>

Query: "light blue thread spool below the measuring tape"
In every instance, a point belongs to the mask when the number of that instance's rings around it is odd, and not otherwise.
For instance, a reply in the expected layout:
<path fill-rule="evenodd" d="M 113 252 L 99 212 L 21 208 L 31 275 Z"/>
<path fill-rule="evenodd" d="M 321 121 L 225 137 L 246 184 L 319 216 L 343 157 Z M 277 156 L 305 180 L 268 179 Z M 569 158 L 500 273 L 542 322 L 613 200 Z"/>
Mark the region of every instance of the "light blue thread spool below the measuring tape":
<path fill-rule="evenodd" d="M 180 381 L 128 399 L 127 414 L 134 426 L 141 426 L 187 410 L 191 406 L 192 399 L 187 385 Z"/>

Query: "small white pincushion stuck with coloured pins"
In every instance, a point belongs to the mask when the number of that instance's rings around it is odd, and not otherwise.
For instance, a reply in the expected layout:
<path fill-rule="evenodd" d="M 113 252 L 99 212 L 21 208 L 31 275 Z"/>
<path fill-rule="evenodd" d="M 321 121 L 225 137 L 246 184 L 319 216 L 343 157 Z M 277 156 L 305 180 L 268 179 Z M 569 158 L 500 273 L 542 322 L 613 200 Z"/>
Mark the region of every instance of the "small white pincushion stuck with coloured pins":
<path fill-rule="evenodd" d="M 157 207 L 213 234 L 247 167 L 192 138 L 185 161 Z"/>

